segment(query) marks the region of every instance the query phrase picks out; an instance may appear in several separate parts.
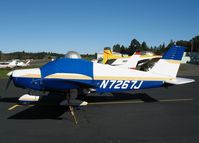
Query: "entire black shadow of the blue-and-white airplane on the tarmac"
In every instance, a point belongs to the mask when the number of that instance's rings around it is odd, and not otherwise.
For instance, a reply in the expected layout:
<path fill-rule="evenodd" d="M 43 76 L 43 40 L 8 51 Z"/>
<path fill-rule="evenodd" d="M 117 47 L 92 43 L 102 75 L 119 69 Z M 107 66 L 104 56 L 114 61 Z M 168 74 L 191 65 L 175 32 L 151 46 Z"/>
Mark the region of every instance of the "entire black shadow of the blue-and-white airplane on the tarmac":
<path fill-rule="evenodd" d="M 16 113 L 8 117 L 8 119 L 55 119 L 62 120 L 60 117 L 69 109 L 66 106 L 60 106 L 59 103 L 63 101 L 65 97 L 63 95 L 48 94 L 48 96 L 43 96 L 41 101 L 34 104 L 34 106 L 28 107 L 27 109 Z M 124 100 L 141 100 L 147 103 L 157 102 L 156 99 L 150 97 L 146 93 L 114 93 L 113 96 L 101 96 L 99 94 L 95 96 L 85 96 L 85 101 L 89 102 L 114 102 L 114 101 L 124 101 Z M 6 97 L 0 98 L 0 102 L 7 103 L 18 103 L 18 97 Z"/>

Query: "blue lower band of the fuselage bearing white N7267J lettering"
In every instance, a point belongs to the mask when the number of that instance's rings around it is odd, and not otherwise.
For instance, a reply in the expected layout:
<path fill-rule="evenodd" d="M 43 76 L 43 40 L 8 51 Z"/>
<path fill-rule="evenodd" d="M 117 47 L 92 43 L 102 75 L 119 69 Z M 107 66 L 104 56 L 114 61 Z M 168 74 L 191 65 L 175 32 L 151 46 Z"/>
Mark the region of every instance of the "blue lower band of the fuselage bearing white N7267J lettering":
<path fill-rule="evenodd" d="M 34 90 L 64 91 L 75 88 L 95 88 L 97 92 L 117 92 L 125 90 L 138 90 L 145 88 L 161 87 L 163 81 L 138 81 L 138 80 L 66 80 L 66 79 L 41 79 L 41 78 L 13 78 L 18 87 Z"/>

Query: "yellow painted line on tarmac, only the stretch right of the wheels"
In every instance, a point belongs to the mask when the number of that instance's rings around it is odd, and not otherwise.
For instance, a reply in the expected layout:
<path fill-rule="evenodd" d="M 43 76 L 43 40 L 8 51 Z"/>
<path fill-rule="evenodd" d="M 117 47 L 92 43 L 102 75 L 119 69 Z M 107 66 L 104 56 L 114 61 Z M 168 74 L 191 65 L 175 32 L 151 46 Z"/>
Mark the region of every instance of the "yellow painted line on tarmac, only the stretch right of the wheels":
<path fill-rule="evenodd" d="M 159 102 L 182 102 L 182 101 L 192 101 L 191 98 L 184 98 L 184 99 L 162 99 Z M 111 104 L 139 104 L 144 103 L 144 101 L 116 101 L 116 102 L 91 102 L 88 105 L 111 105 Z"/>

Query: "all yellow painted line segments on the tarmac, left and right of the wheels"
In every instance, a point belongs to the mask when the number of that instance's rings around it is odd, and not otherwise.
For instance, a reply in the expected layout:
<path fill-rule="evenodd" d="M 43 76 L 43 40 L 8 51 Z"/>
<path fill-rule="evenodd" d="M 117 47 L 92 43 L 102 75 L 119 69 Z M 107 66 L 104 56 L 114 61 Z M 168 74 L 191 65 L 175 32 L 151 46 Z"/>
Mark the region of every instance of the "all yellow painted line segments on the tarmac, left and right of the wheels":
<path fill-rule="evenodd" d="M 162 99 L 159 100 L 159 102 L 182 102 L 182 101 L 192 101 L 192 98 L 184 98 L 184 99 Z M 91 102 L 88 103 L 88 105 L 112 105 L 112 104 L 138 104 L 138 103 L 144 103 L 144 101 L 113 101 L 113 102 Z M 17 107 L 21 107 L 23 105 L 19 105 L 19 104 L 15 104 L 13 106 L 11 106 L 10 108 L 8 108 L 9 111 L 17 108 Z M 32 107 L 34 105 L 28 105 L 28 107 Z"/>

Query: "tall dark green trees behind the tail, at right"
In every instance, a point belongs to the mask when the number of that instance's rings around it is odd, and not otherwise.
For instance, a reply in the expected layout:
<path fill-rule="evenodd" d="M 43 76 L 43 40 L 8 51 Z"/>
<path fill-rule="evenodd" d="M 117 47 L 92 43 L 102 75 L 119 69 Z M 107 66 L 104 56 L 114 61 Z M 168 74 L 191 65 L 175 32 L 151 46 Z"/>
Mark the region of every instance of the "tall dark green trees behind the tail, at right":
<path fill-rule="evenodd" d="M 162 54 L 173 45 L 186 47 L 186 52 L 199 52 L 199 36 L 195 36 L 189 41 L 179 40 L 174 42 L 171 40 L 168 45 L 160 44 L 159 46 L 154 47 L 149 47 L 145 41 L 140 43 L 137 39 L 133 39 L 128 47 L 121 44 L 115 44 L 112 49 L 114 52 L 127 55 L 133 55 L 135 51 L 152 51 L 155 54 Z"/>

